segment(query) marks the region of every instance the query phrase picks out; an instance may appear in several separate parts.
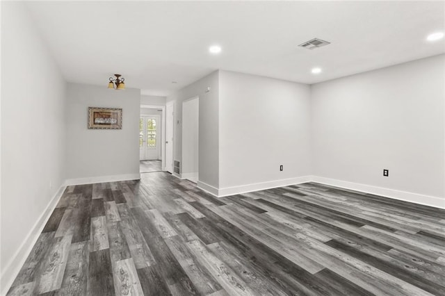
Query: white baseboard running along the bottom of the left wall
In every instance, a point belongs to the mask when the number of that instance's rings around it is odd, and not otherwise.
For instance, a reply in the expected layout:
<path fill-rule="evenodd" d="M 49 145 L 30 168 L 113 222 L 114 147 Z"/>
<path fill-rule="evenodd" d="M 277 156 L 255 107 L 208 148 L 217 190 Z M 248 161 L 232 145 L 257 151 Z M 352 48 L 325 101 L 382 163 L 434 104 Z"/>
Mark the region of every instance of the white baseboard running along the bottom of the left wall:
<path fill-rule="evenodd" d="M 54 211 L 54 208 L 56 208 L 60 197 L 62 197 L 63 192 L 65 191 L 65 188 L 65 185 L 60 186 L 54 197 L 49 202 L 47 208 L 44 209 L 42 215 L 40 215 L 31 231 L 29 231 L 28 235 L 22 242 L 22 245 L 20 245 L 15 254 L 10 258 L 8 263 L 6 263 L 5 268 L 1 270 L 1 295 L 6 295 L 10 286 L 13 285 L 15 277 L 17 277 L 17 274 L 19 274 L 20 269 L 22 269 L 26 258 L 28 258 L 29 254 L 31 253 L 35 242 L 37 242 L 40 233 L 42 233 L 44 226 L 47 224 L 49 217 Z"/>

